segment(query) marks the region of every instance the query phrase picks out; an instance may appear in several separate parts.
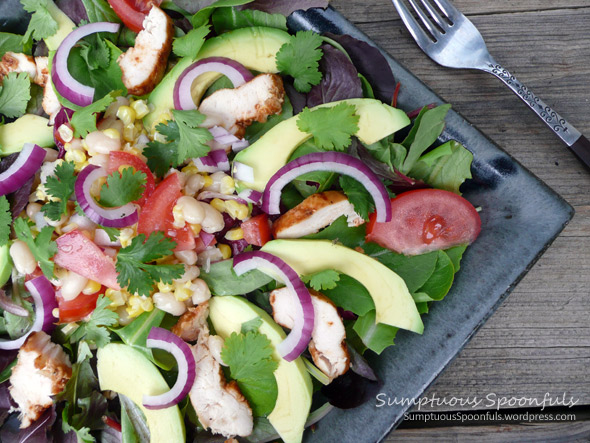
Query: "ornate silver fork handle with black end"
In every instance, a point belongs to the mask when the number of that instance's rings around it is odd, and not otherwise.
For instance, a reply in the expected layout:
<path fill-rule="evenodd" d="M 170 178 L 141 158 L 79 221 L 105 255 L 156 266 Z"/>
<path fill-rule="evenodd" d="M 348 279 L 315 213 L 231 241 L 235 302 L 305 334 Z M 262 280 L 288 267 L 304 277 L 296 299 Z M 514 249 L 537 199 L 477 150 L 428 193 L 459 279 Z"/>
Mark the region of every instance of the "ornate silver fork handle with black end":
<path fill-rule="evenodd" d="M 590 141 L 547 103 L 520 83 L 514 75 L 495 61 L 487 63 L 484 71 L 495 75 L 525 102 L 535 114 L 570 148 L 578 159 L 590 168 Z"/>

